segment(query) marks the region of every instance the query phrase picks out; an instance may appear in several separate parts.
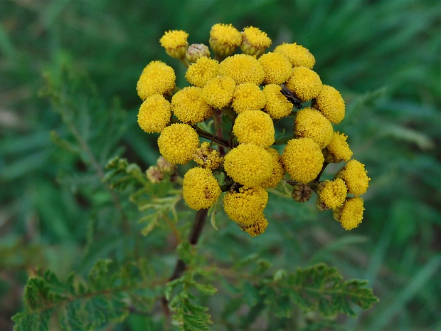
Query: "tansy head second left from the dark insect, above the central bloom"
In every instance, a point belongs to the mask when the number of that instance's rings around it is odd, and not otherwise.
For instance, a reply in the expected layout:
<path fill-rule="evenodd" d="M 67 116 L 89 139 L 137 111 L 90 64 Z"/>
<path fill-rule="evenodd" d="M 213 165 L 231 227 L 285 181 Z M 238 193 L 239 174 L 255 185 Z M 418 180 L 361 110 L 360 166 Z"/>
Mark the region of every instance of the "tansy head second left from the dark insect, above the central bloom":
<path fill-rule="evenodd" d="M 233 110 L 237 113 L 246 110 L 260 110 L 265 107 L 266 98 L 259 86 L 253 83 L 239 84 L 233 94 Z"/>

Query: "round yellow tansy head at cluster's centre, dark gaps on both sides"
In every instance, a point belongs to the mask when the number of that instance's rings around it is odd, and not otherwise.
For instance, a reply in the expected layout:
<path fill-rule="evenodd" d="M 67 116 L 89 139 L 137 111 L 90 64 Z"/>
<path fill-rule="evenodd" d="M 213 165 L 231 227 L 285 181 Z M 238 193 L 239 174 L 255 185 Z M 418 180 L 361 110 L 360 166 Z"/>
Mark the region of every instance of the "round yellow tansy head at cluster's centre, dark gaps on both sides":
<path fill-rule="evenodd" d="M 240 143 L 268 147 L 275 141 L 271 117 L 260 110 L 240 112 L 234 122 L 233 133 Z"/>

